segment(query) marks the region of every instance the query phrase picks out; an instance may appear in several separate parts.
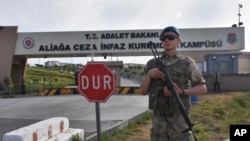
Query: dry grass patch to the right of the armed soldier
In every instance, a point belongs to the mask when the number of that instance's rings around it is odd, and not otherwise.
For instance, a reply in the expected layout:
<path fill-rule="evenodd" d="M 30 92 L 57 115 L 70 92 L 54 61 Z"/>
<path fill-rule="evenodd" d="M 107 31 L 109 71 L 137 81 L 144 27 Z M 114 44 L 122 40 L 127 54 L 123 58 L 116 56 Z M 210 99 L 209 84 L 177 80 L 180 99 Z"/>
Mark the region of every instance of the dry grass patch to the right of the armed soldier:
<path fill-rule="evenodd" d="M 250 123 L 250 93 L 224 93 L 200 96 L 200 103 L 190 111 L 194 131 L 201 141 L 229 137 L 230 124 Z"/>

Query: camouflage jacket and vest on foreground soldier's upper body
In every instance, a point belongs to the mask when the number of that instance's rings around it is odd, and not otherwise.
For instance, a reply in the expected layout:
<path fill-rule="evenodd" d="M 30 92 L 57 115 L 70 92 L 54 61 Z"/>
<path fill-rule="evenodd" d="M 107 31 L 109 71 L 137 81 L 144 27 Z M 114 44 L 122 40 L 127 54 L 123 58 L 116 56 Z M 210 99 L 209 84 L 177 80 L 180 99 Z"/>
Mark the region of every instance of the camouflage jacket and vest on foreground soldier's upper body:
<path fill-rule="evenodd" d="M 170 74 L 174 83 L 179 88 L 188 88 L 198 84 L 204 84 L 202 77 L 195 61 L 188 57 L 177 53 L 173 57 L 161 56 L 161 60 L 165 64 L 165 69 Z M 159 68 L 159 64 L 155 59 L 149 60 L 146 66 L 146 72 L 150 69 Z M 189 83 L 190 82 L 190 83 Z M 180 113 L 176 98 L 174 96 L 166 97 L 163 95 L 164 82 L 161 79 L 153 79 L 149 88 L 149 108 L 152 110 L 163 110 L 167 115 Z M 188 110 L 190 108 L 190 96 L 180 95 L 180 98 Z"/>

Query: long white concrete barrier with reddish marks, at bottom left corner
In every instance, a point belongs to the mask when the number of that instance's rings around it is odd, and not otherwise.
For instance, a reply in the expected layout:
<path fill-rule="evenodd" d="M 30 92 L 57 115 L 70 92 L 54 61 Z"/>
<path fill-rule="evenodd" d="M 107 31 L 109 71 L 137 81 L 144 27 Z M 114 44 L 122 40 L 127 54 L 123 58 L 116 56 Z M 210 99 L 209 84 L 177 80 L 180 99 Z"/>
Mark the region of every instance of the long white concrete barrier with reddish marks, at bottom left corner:
<path fill-rule="evenodd" d="M 3 141 L 44 141 L 68 128 L 68 118 L 54 117 L 8 132 Z"/>

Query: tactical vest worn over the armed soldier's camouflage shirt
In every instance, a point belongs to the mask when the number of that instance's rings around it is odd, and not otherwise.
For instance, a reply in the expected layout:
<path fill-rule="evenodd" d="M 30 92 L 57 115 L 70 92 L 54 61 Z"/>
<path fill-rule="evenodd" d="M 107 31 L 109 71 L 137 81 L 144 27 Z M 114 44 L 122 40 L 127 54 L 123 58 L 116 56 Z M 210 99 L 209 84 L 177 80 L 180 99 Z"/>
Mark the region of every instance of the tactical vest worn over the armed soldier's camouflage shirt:
<path fill-rule="evenodd" d="M 177 84 L 179 88 L 186 89 L 188 87 L 188 66 L 189 61 L 186 57 L 178 58 L 177 62 L 166 65 L 165 68 L 170 74 L 172 81 Z M 149 62 L 149 68 L 159 67 L 156 60 Z M 153 79 L 150 85 L 149 91 L 149 109 L 152 110 L 164 110 L 166 115 L 174 113 L 180 113 L 176 98 L 174 96 L 164 96 L 163 86 L 165 83 L 161 79 Z M 190 108 L 190 96 L 180 95 L 180 98 L 185 106 L 186 110 Z M 162 109 L 163 108 L 163 109 Z"/>

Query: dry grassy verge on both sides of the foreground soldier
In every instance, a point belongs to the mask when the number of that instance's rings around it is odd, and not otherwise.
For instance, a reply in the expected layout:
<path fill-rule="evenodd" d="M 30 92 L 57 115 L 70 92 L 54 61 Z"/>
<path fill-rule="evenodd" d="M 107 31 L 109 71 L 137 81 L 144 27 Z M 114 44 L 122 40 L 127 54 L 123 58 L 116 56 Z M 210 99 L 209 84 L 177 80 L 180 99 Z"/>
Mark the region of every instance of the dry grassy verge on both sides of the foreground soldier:
<path fill-rule="evenodd" d="M 199 96 L 198 104 L 190 110 L 194 132 L 199 141 L 222 141 L 229 138 L 231 124 L 250 123 L 250 92 L 218 93 Z M 150 141 L 151 113 L 129 124 L 103 141 Z M 141 132 L 146 132 L 143 134 Z"/>

